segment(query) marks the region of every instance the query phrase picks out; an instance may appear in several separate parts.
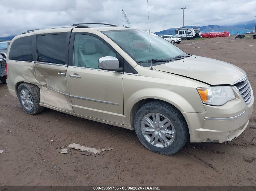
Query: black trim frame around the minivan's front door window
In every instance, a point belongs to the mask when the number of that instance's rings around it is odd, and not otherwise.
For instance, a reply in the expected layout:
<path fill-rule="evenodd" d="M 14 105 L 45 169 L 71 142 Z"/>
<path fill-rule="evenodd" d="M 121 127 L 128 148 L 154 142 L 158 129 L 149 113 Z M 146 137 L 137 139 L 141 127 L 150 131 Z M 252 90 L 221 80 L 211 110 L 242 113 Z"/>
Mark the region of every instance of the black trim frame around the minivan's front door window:
<path fill-rule="evenodd" d="M 95 38 L 101 40 L 101 42 L 103 42 L 105 45 L 107 45 L 108 48 L 110 48 L 117 55 L 117 57 L 120 60 L 122 60 L 122 66 L 121 67 L 123 67 L 124 70 L 122 72 L 118 72 L 118 73 L 138 75 L 138 72 L 109 43 L 107 43 L 104 39 L 102 39 L 98 35 L 96 35 L 94 33 L 88 33 L 88 32 L 71 32 L 69 46 L 68 46 L 68 65 L 69 66 L 79 67 L 79 66 L 74 66 L 73 65 L 73 50 L 74 50 L 74 43 L 75 43 L 75 35 L 76 34 L 84 34 L 84 35 L 89 35 L 89 36 L 95 37 Z M 132 73 L 127 72 L 126 67 L 128 67 L 132 71 Z M 79 68 L 85 68 L 85 67 L 79 67 Z M 100 71 L 112 72 L 112 71 L 101 70 L 101 69 L 97 69 L 97 68 L 86 68 L 86 69 L 95 69 L 95 70 L 100 70 Z"/>

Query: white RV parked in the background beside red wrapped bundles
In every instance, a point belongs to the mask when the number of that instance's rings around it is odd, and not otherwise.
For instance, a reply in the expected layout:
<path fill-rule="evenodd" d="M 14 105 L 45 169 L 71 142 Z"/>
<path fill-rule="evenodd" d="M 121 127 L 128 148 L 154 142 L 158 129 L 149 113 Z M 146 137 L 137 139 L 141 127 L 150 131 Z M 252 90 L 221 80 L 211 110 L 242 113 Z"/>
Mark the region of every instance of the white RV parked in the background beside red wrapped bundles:
<path fill-rule="evenodd" d="M 193 39 L 201 37 L 200 28 L 178 28 L 175 29 L 175 36 L 183 39 Z"/>

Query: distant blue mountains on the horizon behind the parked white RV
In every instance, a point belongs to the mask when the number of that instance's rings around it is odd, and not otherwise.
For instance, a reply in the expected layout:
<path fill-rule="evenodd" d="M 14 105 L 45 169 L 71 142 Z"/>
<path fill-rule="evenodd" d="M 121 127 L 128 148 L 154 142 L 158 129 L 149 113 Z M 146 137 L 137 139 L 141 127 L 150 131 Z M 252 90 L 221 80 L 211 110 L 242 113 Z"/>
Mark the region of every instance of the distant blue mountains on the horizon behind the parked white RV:
<path fill-rule="evenodd" d="M 250 29 L 250 31 L 254 30 L 255 20 L 247 21 L 247 22 L 240 22 L 233 25 L 226 25 L 226 26 L 219 26 L 219 25 L 207 25 L 207 26 L 185 26 L 186 28 L 200 28 L 201 31 L 231 31 L 231 30 L 244 30 Z M 182 27 L 180 27 L 182 28 Z M 167 30 L 162 30 L 159 32 L 155 32 L 157 35 L 167 35 L 167 34 L 174 34 L 176 28 L 169 28 Z"/>

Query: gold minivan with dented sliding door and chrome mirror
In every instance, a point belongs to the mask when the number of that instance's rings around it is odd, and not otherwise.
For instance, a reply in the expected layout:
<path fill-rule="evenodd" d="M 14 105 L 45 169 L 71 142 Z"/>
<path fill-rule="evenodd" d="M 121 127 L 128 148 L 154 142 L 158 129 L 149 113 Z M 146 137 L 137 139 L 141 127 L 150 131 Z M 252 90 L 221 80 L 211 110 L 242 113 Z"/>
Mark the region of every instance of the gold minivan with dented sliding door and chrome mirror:
<path fill-rule="evenodd" d="M 229 63 L 189 55 L 129 27 L 32 30 L 13 38 L 7 86 L 29 114 L 44 107 L 135 130 L 151 151 L 226 142 L 246 128 L 253 91 Z"/>

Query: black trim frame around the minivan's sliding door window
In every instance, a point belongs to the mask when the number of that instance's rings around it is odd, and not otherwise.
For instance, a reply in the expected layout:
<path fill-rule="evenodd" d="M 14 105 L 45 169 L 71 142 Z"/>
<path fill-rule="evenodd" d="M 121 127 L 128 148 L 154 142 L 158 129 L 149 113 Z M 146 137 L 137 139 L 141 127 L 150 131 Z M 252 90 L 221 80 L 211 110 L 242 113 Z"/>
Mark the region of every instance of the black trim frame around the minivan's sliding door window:
<path fill-rule="evenodd" d="M 66 37 L 66 42 L 65 42 L 65 64 L 56 64 L 56 63 L 49 63 L 49 62 L 42 62 L 42 61 L 39 61 L 38 59 L 38 51 L 37 51 L 37 37 L 38 36 L 46 36 L 46 35 L 56 35 L 56 34 L 67 34 L 67 37 Z M 71 31 L 70 32 L 55 32 L 55 33 L 43 33 L 43 34 L 34 34 L 33 36 L 35 36 L 32 40 L 32 43 L 35 44 L 35 47 L 34 47 L 34 51 L 33 51 L 33 59 L 34 61 L 32 62 L 37 62 L 37 63 L 40 63 L 40 64 L 50 64 L 50 65 L 60 65 L 60 66 L 67 66 L 68 65 L 68 44 L 69 44 L 69 40 L 70 40 L 70 36 L 71 36 Z"/>

